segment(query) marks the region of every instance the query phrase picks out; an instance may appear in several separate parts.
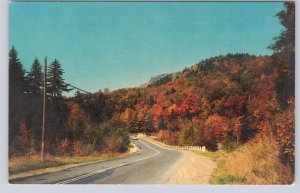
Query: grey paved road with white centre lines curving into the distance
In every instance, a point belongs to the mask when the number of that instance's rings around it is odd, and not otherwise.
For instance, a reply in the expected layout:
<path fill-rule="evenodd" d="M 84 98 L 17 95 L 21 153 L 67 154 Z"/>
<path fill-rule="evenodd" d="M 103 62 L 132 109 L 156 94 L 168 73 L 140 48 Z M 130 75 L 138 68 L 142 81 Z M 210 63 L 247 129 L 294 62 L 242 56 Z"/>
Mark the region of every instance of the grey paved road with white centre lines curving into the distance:
<path fill-rule="evenodd" d="M 164 149 L 144 138 L 133 141 L 139 154 L 28 177 L 15 184 L 164 184 L 184 153 Z"/>

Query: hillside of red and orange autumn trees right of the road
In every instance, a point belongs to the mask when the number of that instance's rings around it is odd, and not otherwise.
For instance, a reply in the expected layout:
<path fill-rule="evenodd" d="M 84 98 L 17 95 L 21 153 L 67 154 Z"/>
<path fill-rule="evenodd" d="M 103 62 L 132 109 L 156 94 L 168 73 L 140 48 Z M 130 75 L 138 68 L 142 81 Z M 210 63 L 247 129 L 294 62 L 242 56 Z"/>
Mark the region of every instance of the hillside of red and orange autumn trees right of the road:
<path fill-rule="evenodd" d="M 280 101 L 276 92 L 279 74 L 288 77 L 283 64 L 288 63 L 279 55 L 207 59 L 174 73 L 165 84 L 112 92 L 114 119 L 129 132 L 158 132 L 167 143 L 211 150 L 217 143 L 232 145 L 273 133 L 290 152 L 293 147 L 285 141 L 293 138 L 294 98 L 289 92 Z M 290 125 L 280 125 L 287 121 Z"/>

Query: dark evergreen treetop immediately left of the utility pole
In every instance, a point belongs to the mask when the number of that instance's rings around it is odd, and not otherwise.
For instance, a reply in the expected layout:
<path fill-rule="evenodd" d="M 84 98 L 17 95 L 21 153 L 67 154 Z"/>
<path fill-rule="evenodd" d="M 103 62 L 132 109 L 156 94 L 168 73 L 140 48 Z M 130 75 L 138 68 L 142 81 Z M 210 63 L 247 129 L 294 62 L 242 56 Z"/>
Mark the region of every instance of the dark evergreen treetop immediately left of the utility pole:
<path fill-rule="evenodd" d="M 28 74 L 29 92 L 33 96 L 41 95 L 43 92 L 43 72 L 42 67 L 37 58 L 35 58 L 30 72 Z"/>

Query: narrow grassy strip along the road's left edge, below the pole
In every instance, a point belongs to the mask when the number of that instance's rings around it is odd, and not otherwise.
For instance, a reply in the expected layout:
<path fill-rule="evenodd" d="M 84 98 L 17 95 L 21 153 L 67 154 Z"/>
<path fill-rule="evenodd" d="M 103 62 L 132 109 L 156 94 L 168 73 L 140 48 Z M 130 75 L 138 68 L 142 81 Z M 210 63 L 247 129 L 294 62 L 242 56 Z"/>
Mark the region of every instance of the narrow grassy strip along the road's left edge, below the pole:
<path fill-rule="evenodd" d="M 11 158 L 9 160 L 9 181 L 29 177 L 33 175 L 40 175 L 46 173 L 57 172 L 63 169 L 76 167 L 80 165 L 117 159 L 126 157 L 129 152 L 118 154 L 99 154 L 92 156 L 46 156 L 46 161 L 41 162 L 39 155 L 22 156 Z"/>

